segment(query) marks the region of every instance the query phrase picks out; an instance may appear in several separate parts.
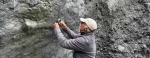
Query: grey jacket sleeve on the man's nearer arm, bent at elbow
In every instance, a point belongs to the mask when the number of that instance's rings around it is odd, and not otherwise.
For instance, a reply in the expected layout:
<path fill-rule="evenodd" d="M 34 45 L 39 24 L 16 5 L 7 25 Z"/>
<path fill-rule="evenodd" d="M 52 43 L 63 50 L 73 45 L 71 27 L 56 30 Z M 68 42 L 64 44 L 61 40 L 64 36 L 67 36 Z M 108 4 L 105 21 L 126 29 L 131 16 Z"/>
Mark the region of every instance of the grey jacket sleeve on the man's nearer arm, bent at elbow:
<path fill-rule="evenodd" d="M 59 28 L 54 29 L 55 35 L 58 38 L 60 46 L 75 51 L 83 51 L 87 45 L 87 41 L 83 37 L 76 39 L 67 39 L 64 37 Z"/>

